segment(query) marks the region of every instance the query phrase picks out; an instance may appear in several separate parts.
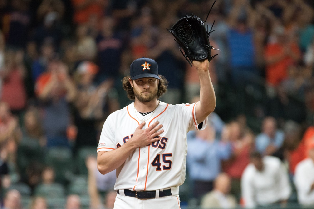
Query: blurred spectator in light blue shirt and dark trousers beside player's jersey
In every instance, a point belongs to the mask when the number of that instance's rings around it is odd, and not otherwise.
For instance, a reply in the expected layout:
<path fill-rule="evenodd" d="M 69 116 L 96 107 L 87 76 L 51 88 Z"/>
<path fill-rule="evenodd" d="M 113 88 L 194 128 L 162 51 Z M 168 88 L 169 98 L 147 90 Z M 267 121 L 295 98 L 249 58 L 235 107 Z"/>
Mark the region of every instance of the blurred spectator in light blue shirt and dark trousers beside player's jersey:
<path fill-rule="evenodd" d="M 231 154 L 228 138 L 217 140 L 214 127 L 196 131 L 195 138 L 188 139 L 187 170 L 193 181 L 193 195 L 202 195 L 213 189 L 214 179 L 221 171 L 221 161 Z"/>

